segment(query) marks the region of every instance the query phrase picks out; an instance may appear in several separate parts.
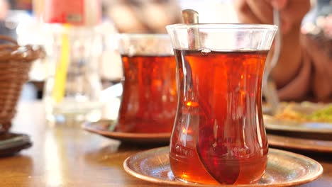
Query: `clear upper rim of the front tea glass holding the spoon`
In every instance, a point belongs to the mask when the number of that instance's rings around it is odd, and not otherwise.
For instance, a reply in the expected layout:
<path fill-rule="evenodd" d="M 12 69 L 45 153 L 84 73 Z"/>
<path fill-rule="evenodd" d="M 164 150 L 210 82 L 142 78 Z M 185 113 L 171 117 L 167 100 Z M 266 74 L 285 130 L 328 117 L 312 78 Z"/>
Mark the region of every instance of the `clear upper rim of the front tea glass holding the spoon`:
<path fill-rule="evenodd" d="M 277 30 L 278 26 L 269 24 L 246 24 L 246 23 L 178 23 L 166 26 L 166 29 L 223 29 L 223 30 Z"/>

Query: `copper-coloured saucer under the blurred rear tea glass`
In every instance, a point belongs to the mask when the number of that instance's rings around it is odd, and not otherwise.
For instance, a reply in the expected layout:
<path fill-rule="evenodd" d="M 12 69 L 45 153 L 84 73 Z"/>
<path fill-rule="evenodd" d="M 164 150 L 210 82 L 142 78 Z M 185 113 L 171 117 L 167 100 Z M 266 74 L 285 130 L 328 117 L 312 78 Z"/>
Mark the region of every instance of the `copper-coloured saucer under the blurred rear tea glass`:
<path fill-rule="evenodd" d="M 119 132 L 113 127 L 112 120 L 99 120 L 95 123 L 84 123 L 82 128 L 89 132 L 109 137 L 123 142 L 143 144 L 167 144 L 170 142 L 171 133 L 133 133 Z"/>

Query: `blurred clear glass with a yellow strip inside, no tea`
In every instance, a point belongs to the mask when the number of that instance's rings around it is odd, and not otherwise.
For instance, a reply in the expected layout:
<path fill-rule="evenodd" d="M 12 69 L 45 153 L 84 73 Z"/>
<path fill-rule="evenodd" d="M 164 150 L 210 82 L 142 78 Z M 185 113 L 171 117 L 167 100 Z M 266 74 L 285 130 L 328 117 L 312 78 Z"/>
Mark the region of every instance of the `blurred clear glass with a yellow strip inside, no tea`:
<path fill-rule="evenodd" d="M 99 120 L 101 33 L 52 25 L 45 35 L 49 65 L 44 90 L 46 118 L 55 123 Z"/>

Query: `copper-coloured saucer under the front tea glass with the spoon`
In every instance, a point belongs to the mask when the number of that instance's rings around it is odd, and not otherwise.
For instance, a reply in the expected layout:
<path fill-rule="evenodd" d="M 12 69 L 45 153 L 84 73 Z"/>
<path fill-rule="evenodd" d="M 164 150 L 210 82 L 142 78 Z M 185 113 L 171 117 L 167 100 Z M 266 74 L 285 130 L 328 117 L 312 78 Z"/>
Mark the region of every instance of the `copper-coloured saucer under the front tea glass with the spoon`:
<path fill-rule="evenodd" d="M 123 163 L 124 169 L 139 179 L 176 186 L 211 186 L 177 181 L 170 169 L 169 147 L 160 147 L 139 152 L 128 157 Z M 314 181 L 323 173 L 318 162 L 301 154 L 269 149 L 267 169 L 258 183 L 238 185 L 253 186 L 297 186 Z M 233 187 L 234 185 L 223 185 Z"/>

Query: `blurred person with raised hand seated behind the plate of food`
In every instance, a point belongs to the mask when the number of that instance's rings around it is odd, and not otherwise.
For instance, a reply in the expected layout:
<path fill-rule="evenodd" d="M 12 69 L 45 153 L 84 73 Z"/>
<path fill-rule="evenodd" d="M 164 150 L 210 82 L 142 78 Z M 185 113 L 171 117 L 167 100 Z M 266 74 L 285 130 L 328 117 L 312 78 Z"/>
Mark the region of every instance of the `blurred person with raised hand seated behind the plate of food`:
<path fill-rule="evenodd" d="M 280 11 L 282 46 L 271 77 L 281 100 L 332 101 L 330 0 L 312 8 L 309 0 L 236 0 L 235 8 L 240 23 L 273 24 L 273 8 Z"/>

